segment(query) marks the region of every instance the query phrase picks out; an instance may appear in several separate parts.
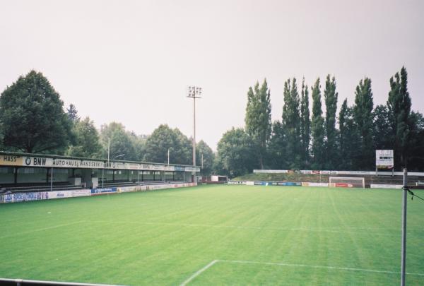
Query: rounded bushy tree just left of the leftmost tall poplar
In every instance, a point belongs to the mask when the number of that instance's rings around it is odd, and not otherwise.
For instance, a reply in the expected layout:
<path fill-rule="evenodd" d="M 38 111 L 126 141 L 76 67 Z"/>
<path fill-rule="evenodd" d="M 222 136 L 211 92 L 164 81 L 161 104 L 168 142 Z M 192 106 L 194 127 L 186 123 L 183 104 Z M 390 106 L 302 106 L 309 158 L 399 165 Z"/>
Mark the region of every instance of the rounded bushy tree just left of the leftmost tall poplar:
<path fill-rule="evenodd" d="M 257 165 L 257 152 L 243 129 L 234 127 L 225 132 L 218 142 L 218 163 L 222 172 L 231 178 L 252 172 Z"/>

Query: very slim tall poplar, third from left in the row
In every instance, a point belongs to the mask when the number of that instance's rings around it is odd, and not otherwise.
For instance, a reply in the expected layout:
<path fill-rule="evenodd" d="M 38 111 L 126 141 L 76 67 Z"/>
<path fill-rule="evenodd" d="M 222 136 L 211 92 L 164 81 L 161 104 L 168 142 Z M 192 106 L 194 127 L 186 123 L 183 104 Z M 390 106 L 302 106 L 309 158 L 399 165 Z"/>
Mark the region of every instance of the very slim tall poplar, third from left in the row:
<path fill-rule="evenodd" d="M 300 100 L 300 138 L 302 143 L 302 161 L 305 167 L 310 162 L 310 109 L 309 92 L 305 86 L 305 78 L 302 81 L 302 98 Z"/>

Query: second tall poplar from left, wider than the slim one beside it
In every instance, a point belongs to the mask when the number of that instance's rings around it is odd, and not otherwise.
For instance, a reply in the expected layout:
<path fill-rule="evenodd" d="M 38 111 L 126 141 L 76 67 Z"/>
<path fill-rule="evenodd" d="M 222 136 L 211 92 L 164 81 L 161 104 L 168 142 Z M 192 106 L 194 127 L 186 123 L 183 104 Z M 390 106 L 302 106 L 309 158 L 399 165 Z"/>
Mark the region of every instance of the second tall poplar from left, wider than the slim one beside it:
<path fill-rule="evenodd" d="M 284 105 L 283 105 L 283 129 L 287 138 L 285 154 L 290 169 L 300 169 L 301 145 L 300 138 L 300 114 L 299 114 L 299 93 L 296 85 L 296 78 L 290 85 L 290 79 L 284 83 Z"/>

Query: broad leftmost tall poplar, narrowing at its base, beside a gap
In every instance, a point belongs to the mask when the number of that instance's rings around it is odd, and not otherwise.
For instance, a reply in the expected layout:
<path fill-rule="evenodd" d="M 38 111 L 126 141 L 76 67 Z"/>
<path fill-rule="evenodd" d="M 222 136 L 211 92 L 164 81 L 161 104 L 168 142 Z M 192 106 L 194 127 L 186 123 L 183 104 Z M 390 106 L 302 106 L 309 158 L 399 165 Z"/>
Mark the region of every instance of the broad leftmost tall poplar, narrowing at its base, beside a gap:
<path fill-rule="evenodd" d="M 271 102 L 270 91 L 266 80 L 259 88 L 259 83 L 249 88 L 247 92 L 246 107 L 246 132 L 252 137 L 257 149 L 259 166 L 264 169 L 264 154 L 266 153 L 266 143 L 271 136 Z"/>

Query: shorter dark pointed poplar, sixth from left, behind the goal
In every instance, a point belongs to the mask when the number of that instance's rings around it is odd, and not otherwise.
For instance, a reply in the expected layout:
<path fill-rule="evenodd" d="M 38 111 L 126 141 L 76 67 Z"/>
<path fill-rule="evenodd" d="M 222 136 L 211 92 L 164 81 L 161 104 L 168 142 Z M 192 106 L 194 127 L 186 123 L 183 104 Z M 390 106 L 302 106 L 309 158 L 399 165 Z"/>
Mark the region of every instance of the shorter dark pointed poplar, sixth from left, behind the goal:
<path fill-rule="evenodd" d="M 353 118 L 353 108 L 348 107 L 348 100 L 343 101 L 338 114 L 338 130 L 340 142 L 340 159 L 338 169 L 356 169 L 358 164 L 359 136 L 358 127 Z"/>

